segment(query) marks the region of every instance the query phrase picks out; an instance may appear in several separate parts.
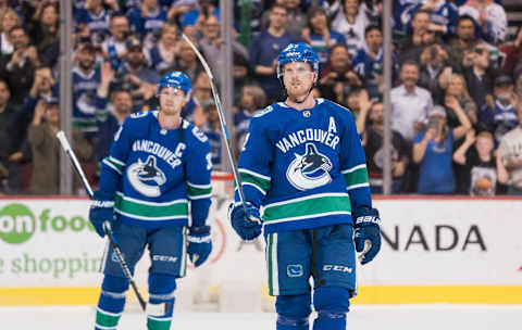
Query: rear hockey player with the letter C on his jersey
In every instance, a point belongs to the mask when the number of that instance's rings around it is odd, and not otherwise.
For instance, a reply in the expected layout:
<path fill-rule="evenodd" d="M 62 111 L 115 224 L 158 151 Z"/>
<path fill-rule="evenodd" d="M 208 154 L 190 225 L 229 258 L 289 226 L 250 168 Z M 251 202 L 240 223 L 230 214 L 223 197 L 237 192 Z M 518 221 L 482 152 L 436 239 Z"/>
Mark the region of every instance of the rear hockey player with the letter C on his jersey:
<path fill-rule="evenodd" d="M 148 329 L 170 329 L 176 278 L 185 276 L 186 254 L 198 267 L 212 250 L 206 225 L 211 204 L 210 143 L 179 116 L 190 90 L 185 74 L 171 72 L 158 86 L 159 111 L 125 119 L 102 162 L 89 214 L 101 237 L 103 223 L 111 221 L 132 272 L 148 245 Z M 116 329 L 129 285 L 112 253 L 110 249 L 103 261 L 96 329 Z"/>

